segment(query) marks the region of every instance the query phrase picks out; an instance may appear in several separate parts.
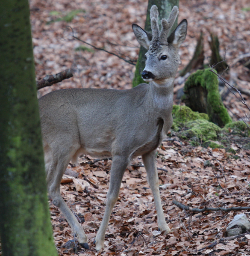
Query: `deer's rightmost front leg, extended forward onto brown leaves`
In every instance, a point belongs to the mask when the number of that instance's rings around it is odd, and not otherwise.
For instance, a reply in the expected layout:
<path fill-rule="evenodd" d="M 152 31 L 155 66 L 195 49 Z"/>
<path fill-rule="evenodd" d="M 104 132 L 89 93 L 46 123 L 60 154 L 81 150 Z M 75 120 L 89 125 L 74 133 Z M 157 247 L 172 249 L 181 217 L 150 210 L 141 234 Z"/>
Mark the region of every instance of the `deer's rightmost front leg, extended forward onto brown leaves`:
<path fill-rule="evenodd" d="M 152 190 L 155 205 L 156 205 L 158 227 L 160 231 L 165 231 L 164 234 L 168 234 L 171 230 L 168 227 L 168 224 L 166 223 L 163 209 L 162 209 L 162 202 L 161 202 L 160 192 L 159 192 L 159 179 L 158 179 L 158 173 L 156 169 L 156 151 L 142 155 L 142 160 L 147 172 L 147 181 Z"/>

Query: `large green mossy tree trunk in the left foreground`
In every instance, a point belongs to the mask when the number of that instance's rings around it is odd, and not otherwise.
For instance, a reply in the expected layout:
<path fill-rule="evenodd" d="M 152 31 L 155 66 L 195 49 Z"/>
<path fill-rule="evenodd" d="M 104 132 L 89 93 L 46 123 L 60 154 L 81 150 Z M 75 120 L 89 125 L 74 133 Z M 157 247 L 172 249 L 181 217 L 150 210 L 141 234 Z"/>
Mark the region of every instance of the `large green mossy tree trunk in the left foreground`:
<path fill-rule="evenodd" d="M 56 256 L 28 0 L 0 8 L 0 237 L 3 256 Z"/>

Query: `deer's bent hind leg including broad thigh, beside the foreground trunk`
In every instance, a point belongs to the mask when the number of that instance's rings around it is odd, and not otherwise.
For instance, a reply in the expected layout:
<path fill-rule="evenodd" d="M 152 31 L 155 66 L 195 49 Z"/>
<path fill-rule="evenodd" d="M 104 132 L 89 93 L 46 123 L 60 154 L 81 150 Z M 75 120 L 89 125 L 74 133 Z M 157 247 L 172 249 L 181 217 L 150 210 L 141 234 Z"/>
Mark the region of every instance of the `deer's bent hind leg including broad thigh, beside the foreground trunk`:
<path fill-rule="evenodd" d="M 68 147 L 68 149 L 65 149 L 64 147 L 64 151 L 59 148 L 53 149 L 52 151 L 48 147 L 45 147 L 45 166 L 47 167 L 48 192 L 53 200 L 53 204 L 60 209 L 68 221 L 79 244 L 85 249 L 88 249 L 87 235 L 60 194 L 62 176 L 71 161 L 71 158 L 74 157 L 78 149 L 79 146 L 71 146 Z"/>

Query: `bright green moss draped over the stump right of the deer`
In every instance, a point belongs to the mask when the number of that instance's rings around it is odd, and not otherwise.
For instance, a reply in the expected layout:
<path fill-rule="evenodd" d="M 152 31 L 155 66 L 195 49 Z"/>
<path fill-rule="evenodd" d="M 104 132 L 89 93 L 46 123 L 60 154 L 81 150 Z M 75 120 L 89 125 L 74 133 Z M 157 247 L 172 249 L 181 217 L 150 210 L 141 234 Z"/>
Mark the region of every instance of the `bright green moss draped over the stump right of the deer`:
<path fill-rule="evenodd" d="M 196 86 L 202 86 L 207 91 L 206 113 L 209 115 L 209 121 L 221 127 L 232 122 L 221 100 L 216 74 L 212 73 L 209 69 L 197 70 L 188 77 L 188 80 L 185 82 L 184 91 L 188 91 L 188 89 Z"/>

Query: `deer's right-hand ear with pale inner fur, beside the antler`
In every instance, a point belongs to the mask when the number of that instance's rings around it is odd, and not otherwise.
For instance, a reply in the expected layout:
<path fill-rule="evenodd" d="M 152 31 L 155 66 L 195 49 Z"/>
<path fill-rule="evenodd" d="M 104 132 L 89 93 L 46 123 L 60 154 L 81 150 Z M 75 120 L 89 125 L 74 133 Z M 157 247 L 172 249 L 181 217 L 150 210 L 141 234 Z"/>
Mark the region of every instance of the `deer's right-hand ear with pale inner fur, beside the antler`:
<path fill-rule="evenodd" d="M 168 37 L 168 43 L 174 45 L 176 48 L 179 48 L 186 38 L 187 29 L 188 21 L 184 19 Z"/>

